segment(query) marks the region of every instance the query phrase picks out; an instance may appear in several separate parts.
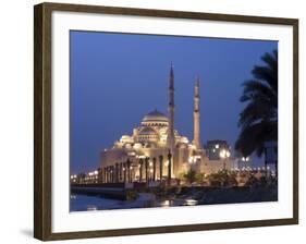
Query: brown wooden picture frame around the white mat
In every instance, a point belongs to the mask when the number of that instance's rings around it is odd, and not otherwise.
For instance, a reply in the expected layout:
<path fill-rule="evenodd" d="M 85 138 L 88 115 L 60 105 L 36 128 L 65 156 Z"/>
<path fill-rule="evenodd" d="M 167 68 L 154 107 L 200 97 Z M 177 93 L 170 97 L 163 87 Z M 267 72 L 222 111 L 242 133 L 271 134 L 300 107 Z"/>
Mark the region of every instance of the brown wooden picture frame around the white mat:
<path fill-rule="evenodd" d="M 136 234 L 170 233 L 185 231 L 221 230 L 246 227 L 268 227 L 298 223 L 298 20 L 281 17 L 243 16 L 199 12 L 179 12 L 149 9 L 128 9 L 98 5 L 41 3 L 34 11 L 34 236 L 42 241 L 120 236 Z M 265 219 L 203 224 L 166 225 L 118 230 L 96 230 L 82 232 L 52 232 L 52 188 L 51 188 L 51 138 L 52 138 L 52 82 L 51 82 L 51 15 L 53 11 L 78 13 L 107 13 L 150 17 L 172 17 L 181 20 L 210 20 L 236 23 L 274 24 L 293 27 L 293 217 L 286 219 Z"/>

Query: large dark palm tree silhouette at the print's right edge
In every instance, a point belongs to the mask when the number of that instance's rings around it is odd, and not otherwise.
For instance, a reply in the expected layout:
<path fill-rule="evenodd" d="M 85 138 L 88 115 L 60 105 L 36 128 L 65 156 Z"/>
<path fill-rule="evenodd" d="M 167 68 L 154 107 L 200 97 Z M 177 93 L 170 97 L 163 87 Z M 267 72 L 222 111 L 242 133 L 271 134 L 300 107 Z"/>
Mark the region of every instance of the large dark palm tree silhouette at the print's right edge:
<path fill-rule="evenodd" d="M 260 157 L 265 142 L 278 141 L 278 51 L 261 57 L 265 65 L 255 65 L 254 78 L 243 83 L 240 114 L 241 132 L 235 149 L 243 156 L 256 152 Z"/>

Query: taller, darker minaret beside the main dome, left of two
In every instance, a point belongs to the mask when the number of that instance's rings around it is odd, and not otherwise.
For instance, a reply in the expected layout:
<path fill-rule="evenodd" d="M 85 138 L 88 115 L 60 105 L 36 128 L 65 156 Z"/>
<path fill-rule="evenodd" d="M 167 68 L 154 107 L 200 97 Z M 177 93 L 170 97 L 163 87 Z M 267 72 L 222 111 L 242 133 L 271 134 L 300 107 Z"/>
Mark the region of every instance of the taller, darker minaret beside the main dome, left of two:
<path fill-rule="evenodd" d="M 171 63 L 171 69 L 170 69 L 168 96 L 169 96 L 169 105 L 168 105 L 169 126 L 168 126 L 167 146 L 172 150 L 175 145 L 175 138 L 174 138 L 174 72 L 173 72 L 172 63 Z"/>

